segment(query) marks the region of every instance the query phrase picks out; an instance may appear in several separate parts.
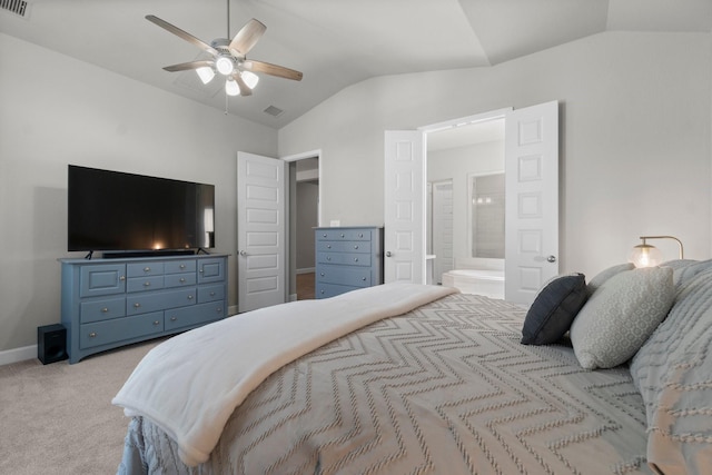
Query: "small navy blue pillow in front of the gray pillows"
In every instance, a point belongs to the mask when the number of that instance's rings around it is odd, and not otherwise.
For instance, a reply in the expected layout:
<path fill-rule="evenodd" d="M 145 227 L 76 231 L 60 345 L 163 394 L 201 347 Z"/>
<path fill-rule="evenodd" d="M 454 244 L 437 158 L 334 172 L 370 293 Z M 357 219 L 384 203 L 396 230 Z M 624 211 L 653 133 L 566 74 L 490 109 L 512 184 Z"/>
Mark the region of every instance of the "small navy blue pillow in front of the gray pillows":
<path fill-rule="evenodd" d="M 550 280 L 526 313 L 522 344 L 548 345 L 566 335 L 589 294 L 583 274 L 568 274 Z"/>

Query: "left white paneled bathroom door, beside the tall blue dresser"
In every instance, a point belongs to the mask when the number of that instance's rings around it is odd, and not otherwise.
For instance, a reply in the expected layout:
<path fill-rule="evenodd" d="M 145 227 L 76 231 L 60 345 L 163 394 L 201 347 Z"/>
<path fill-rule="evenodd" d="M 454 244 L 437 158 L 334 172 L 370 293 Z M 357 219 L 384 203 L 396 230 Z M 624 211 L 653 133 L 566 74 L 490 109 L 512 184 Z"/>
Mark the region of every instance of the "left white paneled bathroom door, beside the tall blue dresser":
<path fill-rule="evenodd" d="M 384 281 L 425 284 L 425 139 L 385 133 Z"/>

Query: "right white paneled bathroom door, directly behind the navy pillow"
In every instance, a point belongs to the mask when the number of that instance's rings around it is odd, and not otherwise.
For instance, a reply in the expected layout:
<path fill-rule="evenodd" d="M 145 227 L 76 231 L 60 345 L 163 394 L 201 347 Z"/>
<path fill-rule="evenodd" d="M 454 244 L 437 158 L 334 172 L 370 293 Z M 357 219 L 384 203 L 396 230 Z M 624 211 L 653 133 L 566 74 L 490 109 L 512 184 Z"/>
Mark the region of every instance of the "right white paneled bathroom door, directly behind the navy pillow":
<path fill-rule="evenodd" d="M 558 102 L 505 117 L 505 299 L 528 305 L 558 274 Z"/>

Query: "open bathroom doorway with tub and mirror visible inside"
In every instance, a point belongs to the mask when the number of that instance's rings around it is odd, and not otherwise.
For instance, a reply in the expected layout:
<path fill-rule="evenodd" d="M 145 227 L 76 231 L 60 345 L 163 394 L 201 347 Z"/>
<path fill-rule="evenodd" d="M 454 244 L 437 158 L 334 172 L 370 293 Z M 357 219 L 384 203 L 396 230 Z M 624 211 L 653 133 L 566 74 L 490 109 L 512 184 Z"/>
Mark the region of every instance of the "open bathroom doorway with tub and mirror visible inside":
<path fill-rule="evenodd" d="M 473 287 L 472 276 L 494 270 L 501 280 L 496 291 L 487 295 L 503 298 L 504 126 L 504 118 L 498 117 L 427 135 L 426 180 L 432 196 L 427 197 L 426 254 L 434 284 L 445 278 L 462 291 L 482 294 Z M 492 176 L 502 178 L 497 180 L 501 194 L 485 190 L 482 181 Z M 493 216 L 495 211 L 502 216 Z M 502 249 L 501 255 L 481 251 L 492 247 Z M 453 276 L 457 276 L 455 283 Z"/>

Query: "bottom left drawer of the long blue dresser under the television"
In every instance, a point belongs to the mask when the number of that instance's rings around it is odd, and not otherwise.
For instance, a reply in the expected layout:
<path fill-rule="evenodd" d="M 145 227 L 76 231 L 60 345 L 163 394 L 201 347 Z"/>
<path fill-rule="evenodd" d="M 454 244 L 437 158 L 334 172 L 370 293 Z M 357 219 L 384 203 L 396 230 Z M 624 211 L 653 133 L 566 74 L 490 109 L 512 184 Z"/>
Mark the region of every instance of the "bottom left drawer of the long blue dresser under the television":
<path fill-rule="evenodd" d="M 81 325 L 80 348 L 91 348 L 115 342 L 137 338 L 164 330 L 164 313 L 156 311 L 135 317 L 115 318 Z"/>

